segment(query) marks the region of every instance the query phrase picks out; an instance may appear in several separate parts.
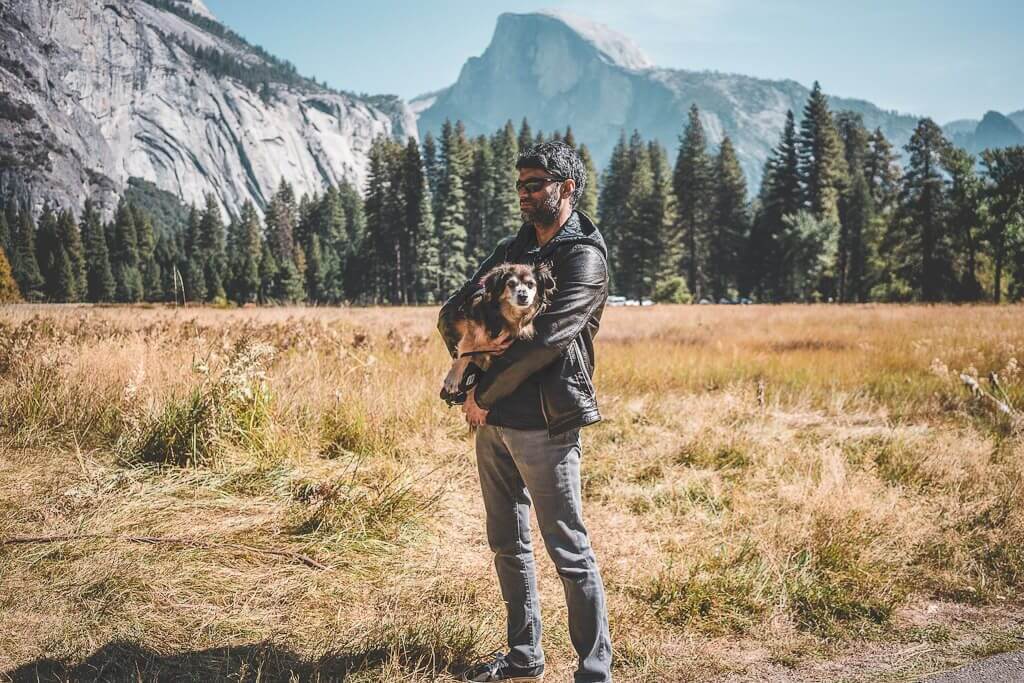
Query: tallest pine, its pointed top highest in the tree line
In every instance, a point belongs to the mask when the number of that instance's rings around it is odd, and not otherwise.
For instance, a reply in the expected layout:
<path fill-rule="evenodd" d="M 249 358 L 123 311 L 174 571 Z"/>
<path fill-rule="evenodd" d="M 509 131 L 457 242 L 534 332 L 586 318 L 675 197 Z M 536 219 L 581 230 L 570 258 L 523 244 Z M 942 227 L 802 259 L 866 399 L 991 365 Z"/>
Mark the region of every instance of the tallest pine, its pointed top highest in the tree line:
<path fill-rule="evenodd" d="M 828 100 L 817 81 L 804 108 L 799 142 L 805 205 L 819 220 L 838 222 L 839 196 L 846 182 L 846 160 Z"/>

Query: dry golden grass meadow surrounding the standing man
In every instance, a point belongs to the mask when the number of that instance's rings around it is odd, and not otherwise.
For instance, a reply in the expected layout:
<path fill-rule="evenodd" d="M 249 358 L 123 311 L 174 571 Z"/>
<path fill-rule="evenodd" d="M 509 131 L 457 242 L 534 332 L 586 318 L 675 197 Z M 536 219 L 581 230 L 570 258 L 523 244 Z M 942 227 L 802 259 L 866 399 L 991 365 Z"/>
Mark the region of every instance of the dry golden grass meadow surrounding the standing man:
<path fill-rule="evenodd" d="M 0 680 L 444 681 L 502 647 L 435 316 L 0 307 Z M 597 362 L 616 680 L 1021 647 L 1024 308 L 613 308 Z"/>

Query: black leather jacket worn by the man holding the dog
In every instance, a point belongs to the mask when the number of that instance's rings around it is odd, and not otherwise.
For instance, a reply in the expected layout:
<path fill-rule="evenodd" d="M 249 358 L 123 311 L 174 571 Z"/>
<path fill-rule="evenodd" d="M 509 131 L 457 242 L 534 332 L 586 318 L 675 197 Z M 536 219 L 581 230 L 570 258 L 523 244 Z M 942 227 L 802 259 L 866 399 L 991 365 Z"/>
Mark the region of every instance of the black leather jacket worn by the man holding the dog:
<path fill-rule="evenodd" d="M 454 313 L 479 289 L 483 274 L 506 261 L 549 262 L 556 290 L 534 322 L 537 335 L 517 340 L 494 359 L 477 383 L 475 398 L 480 408 L 489 409 L 537 373 L 548 433 L 556 436 L 601 419 L 593 384 L 594 337 L 608 299 L 608 250 L 594 222 L 579 211 L 544 247 L 538 249 L 535 236 L 532 224 L 526 223 L 514 238 L 503 240 L 441 307 L 437 329 L 455 357 Z"/>

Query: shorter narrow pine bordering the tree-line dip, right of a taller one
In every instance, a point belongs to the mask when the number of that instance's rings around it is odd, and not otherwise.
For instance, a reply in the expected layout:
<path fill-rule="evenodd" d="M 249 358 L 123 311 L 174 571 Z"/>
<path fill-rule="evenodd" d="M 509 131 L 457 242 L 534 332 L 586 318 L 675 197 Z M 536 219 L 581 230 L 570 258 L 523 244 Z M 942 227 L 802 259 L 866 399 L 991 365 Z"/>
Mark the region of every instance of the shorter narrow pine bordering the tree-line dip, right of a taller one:
<path fill-rule="evenodd" d="M 726 136 L 715 159 L 708 263 L 714 300 L 734 298 L 738 293 L 743 246 L 749 240 L 746 180 L 739 168 L 732 140 Z"/>

